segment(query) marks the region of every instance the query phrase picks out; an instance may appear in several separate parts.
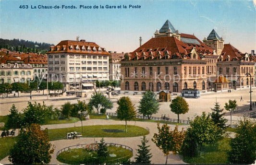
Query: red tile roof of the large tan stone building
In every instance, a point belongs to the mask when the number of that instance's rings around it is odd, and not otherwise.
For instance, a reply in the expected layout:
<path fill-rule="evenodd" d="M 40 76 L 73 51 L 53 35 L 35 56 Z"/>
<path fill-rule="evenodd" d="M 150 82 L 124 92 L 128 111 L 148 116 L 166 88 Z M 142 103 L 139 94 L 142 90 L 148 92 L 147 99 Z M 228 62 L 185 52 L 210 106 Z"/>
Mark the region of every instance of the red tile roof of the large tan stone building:
<path fill-rule="evenodd" d="M 194 35 L 181 34 L 181 36 L 185 38 L 196 39 L 200 43 L 200 45 L 184 43 L 174 36 L 151 38 L 141 47 L 138 47 L 136 50 L 129 53 L 131 56 L 131 60 L 134 60 L 135 56 L 138 56 L 138 59 L 142 59 L 142 57 L 145 56 L 147 59 L 149 58 L 149 56 L 152 55 L 153 59 L 157 59 L 157 55 L 164 57 L 165 53 L 170 54 L 169 59 L 172 59 L 173 55 L 176 55 L 176 59 L 183 59 L 184 55 L 187 55 L 187 59 L 190 59 L 190 52 L 194 47 L 198 54 L 210 53 L 212 55 L 213 49 L 211 47 L 207 47 Z M 199 56 L 198 59 L 200 59 Z"/>

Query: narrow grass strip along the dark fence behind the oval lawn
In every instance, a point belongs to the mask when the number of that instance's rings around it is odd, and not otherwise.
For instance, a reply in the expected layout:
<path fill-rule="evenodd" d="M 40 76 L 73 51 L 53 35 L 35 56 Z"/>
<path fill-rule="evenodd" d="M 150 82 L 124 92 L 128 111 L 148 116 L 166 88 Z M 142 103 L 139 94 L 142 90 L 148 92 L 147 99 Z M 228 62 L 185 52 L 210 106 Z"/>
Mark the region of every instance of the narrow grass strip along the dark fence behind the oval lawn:
<path fill-rule="evenodd" d="M 109 116 L 109 118 L 112 120 L 119 120 L 116 116 Z M 106 115 L 92 114 L 92 115 L 90 115 L 90 119 L 106 119 Z M 142 119 L 142 118 L 135 118 L 132 121 L 146 121 L 146 122 L 163 123 L 163 124 L 187 125 L 184 123 L 175 123 L 175 122 L 170 122 L 170 121 L 165 121 L 165 120 L 152 120 L 152 119 Z"/>

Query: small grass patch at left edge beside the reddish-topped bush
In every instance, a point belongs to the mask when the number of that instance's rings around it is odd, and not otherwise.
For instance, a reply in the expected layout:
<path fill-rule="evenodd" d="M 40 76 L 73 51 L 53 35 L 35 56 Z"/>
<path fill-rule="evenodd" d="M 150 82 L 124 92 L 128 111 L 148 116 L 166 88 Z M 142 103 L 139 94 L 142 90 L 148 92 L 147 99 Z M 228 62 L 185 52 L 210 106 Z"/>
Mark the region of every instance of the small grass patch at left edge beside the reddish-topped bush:
<path fill-rule="evenodd" d="M 16 137 L 0 138 L 0 160 L 5 158 L 9 154 L 9 151 L 12 148 L 15 140 Z"/>

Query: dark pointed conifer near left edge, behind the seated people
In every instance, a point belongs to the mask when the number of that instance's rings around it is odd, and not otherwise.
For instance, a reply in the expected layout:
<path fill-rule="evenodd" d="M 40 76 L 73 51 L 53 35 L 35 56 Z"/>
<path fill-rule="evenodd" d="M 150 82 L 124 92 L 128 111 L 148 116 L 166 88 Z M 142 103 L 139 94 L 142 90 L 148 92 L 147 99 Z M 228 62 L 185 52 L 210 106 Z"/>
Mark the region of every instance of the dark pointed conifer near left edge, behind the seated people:
<path fill-rule="evenodd" d="M 21 116 L 20 114 L 18 113 L 18 110 L 16 108 L 16 106 L 14 104 L 12 104 L 12 107 L 10 109 L 10 115 L 8 115 L 8 119 L 7 119 L 7 122 L 4 124 L 4 127 L 7 129 L 7 130 L 10 130 L 10 129 L 20 129 L 21 127 L 21 122 L 22 122 L 22 119 L 21 119 Z"/>

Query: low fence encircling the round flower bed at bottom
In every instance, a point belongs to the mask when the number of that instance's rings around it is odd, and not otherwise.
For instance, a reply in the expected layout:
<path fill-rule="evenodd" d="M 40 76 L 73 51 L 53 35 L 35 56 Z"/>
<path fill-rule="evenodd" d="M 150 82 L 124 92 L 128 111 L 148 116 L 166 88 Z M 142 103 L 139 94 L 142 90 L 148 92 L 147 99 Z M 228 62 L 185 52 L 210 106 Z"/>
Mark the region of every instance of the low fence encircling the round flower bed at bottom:
<path fill-rule="evenodd" d="M 83 148 L 83 147 L 85 147 L 85 146 L 87 146 L 87 145 L 95 145 L 95 144 L 99 144 L 99 143 L 76 144 L 76 145 L 72 145 L 72 146 L 69 146 L 69 147 L 65 147 L 65 148 L 62 148 L 61 150 L 59 150 L 59 151 L 56 153 L 56 157 L 58 157 L 58 155 L 59 155 L 60 153 L 65 152 L 65 151 L 69 151 L 69 150 L 71 150 L 71 149 L 76 149 L 76 148 Z M 105 144 L 107 144 L 107 146 L 122 147 L 123 149 L 129 150 L 129 151 L 131 151 L 132 153 L 134 153 L 134 150 L 133 150 L 131 147 L 126 146 L 126 145 L 117 144 L 117 143 L 112 143 L 112 142 L 105 142 Z M 112 162 L 112 161 L 116 161 L 116 160 L 117 160 L 117 161 L 119 162 L 119 160 L 122 160 L 122 159 L 124 159 L 124 158 L 126 158 L 126 157 L 128 157 L 128 156 L 129 156 L 129 155 L 123 156 L 123 157 L 117 158 L 117 159 L 112 159 L 112 160 L 110 160 L 110 161 Z M 63 162 L 63 163 L 66 163 L 66 164 L 82 164 L 82 163 L 83 163 L 83 162 L 75 162 L 75 161 L 62 160 L 62 159 L 60 159 L 60 158 L 58 158 L 58 159 L 59 159 L 59 161 L 61 161 L 61 162 Z M 107 163 L 107 162 L 106 162 L 106 163 Z"/>

